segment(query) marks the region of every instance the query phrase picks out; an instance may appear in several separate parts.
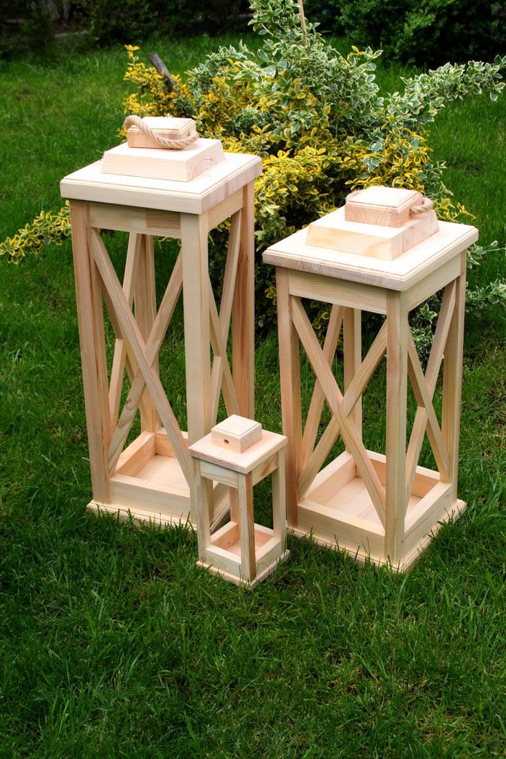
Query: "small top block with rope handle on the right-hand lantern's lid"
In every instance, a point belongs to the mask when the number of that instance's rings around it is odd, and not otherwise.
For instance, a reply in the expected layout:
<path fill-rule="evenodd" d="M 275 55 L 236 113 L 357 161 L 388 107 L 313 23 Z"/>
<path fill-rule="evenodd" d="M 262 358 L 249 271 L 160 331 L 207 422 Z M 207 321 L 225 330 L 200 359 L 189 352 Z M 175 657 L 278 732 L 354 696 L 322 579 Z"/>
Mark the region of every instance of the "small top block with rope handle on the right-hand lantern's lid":
<path fill-rule="evenodd" d="M 403 187 L 366 187 L 347 197 L 344 218 L 347 222 L 401 227 L 413 206 L 420 206 L 423 196 Z"/>

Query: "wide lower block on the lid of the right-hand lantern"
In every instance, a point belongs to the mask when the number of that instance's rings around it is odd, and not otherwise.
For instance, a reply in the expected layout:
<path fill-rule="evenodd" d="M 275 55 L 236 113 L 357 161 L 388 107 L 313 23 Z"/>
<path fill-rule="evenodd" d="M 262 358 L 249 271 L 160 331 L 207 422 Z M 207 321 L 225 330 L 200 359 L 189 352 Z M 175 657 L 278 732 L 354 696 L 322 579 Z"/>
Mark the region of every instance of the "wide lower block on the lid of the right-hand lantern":
<path fill-rule="evenodd" d="M 411 216 L 400 226 L 380 226 L 347 221 L 340 208 L 310 224 L 306 244 L 391 261 L 437 231 L 434 211 Z"/>

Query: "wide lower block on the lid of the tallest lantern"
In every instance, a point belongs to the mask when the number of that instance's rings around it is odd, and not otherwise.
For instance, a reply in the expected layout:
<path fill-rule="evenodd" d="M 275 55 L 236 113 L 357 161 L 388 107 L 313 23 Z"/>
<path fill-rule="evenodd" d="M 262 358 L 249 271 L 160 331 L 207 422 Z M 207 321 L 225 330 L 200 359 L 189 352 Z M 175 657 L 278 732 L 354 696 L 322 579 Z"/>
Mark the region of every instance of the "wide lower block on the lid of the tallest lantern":
<path fill-rule="evenodd" d="M 189 182 L 223 159 L 219 140 L 199 139 L 185 150 L 129 147 L 127 143 L 121 143 L 105 151 L 102 173 Z"/>

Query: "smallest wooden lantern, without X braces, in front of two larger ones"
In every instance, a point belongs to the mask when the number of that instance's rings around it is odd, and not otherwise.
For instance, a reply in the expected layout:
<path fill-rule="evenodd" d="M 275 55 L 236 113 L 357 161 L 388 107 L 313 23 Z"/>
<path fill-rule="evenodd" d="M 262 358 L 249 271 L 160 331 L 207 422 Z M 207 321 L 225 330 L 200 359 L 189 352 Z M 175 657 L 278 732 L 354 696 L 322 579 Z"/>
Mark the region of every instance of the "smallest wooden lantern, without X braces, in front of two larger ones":
<path fill-rule="evenodd" d="M 256 585 L 288 551 L 284 502 L 286 438 L 251 419 L 232 415 L 190 446 L 191 497 L 196 505 L 199 561 L 213 575 L 235 584 Z M 272 474 L 273 529 L 253 521 L 253 485 Z M 230 489 L 231 520 L 213 535 L 209 530 L 212 482 Z"/>

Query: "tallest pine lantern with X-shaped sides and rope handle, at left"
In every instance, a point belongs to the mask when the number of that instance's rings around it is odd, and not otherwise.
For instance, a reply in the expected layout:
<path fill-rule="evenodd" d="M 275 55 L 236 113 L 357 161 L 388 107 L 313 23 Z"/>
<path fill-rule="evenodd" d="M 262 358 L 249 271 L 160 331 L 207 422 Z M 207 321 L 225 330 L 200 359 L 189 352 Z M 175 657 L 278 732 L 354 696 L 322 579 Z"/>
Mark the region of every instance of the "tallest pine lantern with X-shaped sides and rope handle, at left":
<path fill-rule="evenodd" d="M 160 129 L 169 145 L 181 138 L 184 150 L 129 140 L 133 146 L 118 146 L 61 181 L 61 194 L 71 199 L 90 506 L 161 524 L 189 518 L 196 525 L 188 443 L 209 433 L 221 395 L 228 414 L 254 414 L 253 180 L 262 165 L 256 156 L 223 153 L 218 140 L 196 139 L 187 119 L 152 121 L 149 134 Z M 208 235 L 226 219 L 230 235 L 218 308 Z M 101 230 L 108 229 L 130 233 L 122 280 L 102 239 Z M 153 235 L 181 239 L 159 303 Z M 159 372 L 159 349 L 181 291 L 187 432 Z M 104 305 L 115 332 L 112 351 L 106 351 Z M 138 411 L 140 433 L 130 440 Z M 218 521 L 228 509 L 227 488 L 215 483 L 211 502 Z"/>

